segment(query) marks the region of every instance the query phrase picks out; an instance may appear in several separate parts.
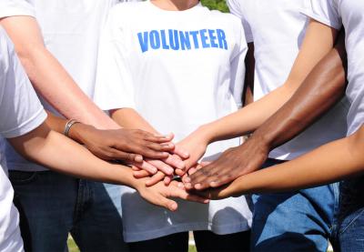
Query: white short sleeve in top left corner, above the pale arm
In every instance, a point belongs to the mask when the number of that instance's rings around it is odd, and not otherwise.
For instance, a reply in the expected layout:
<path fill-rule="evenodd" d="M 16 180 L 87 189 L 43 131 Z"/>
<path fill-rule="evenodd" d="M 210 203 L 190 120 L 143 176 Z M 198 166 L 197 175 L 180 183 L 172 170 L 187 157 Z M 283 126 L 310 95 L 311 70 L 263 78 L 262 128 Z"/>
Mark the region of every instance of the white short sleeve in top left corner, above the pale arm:
<path fill-rule="evenodd" d="M 35 16 L 32 0 L 0 0 L 0 18 L 14 15 Z"/>

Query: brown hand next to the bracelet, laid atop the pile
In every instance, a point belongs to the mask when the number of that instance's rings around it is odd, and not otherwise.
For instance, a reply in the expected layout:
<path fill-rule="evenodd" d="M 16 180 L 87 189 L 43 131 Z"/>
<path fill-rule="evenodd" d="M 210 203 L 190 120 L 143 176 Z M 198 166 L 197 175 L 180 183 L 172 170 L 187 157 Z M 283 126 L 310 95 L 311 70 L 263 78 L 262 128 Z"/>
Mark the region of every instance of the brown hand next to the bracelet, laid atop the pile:
<path fill-rule="evenodd" d="M 84 144 L 95 156 L 105 160 L 142 162 L 143 156 L 167 158 L 175 146 L 173 136 L 157 136 L 138 129 L 120 128 L 99 130 L 93 126 L 76 124 L 69 136 Z"/>

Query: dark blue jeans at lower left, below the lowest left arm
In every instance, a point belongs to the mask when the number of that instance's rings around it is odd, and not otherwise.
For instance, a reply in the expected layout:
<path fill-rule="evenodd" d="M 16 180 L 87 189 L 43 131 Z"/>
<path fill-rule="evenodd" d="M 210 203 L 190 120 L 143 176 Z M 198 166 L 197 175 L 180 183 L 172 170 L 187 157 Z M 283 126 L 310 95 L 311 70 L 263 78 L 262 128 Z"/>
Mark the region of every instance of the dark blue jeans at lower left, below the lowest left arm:
<path fill-rule="evenodd" d="M 117 186 L 52 171 L 10 171 L 9 177 L 25 250 L 64 252 L 71 233 L 81 251 L 127 251 Z"/>

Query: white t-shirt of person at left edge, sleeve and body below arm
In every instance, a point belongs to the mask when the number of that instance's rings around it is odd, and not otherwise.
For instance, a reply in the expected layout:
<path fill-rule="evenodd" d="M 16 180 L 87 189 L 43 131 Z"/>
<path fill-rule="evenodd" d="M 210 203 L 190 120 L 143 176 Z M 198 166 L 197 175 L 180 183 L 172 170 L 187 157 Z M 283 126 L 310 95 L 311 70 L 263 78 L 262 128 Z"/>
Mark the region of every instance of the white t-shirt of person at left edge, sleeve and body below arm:
<path fill-rule="evenodd" d="M 0 136 L 22 136 L 45 121 L 45 111 L 15 55 L 14 46 L 0 26 Z M 0 139 L 4 145 L 4 138 Z M 0 149 L 0 251 L 23 251 L 14 191 L 6 176 Z"/>

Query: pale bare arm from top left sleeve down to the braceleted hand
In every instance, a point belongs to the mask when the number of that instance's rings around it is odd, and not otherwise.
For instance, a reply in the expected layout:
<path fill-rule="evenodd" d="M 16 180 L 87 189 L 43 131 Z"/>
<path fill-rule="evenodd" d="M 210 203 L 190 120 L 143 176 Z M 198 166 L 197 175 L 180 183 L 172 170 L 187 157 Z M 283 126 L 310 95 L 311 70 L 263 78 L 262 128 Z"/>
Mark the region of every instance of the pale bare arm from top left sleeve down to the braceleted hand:
<path fill-rule="evenodd" d="M 11 16 L 1 19 L 0 24 L 13 40 L 16 53 L 36 91 L 59 113 L 99 128 L 118 127 L 85 95 L 45 48 L 35 18 Z"/>

